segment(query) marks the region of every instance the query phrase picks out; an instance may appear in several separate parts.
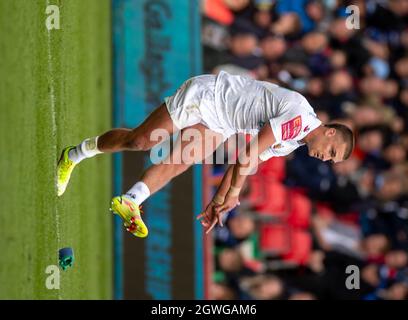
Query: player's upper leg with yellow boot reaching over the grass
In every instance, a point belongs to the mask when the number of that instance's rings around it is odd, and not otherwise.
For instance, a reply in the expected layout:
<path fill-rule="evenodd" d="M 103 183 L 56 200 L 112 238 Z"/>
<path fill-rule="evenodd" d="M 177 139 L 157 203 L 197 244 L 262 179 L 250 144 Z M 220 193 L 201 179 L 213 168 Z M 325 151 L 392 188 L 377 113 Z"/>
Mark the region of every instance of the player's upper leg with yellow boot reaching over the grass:
<path fill-rule="evenodd" d="M 62 151 L 57 166 L 57 189 L 61 196 L 68 185 L 71 173 L 75 166 L 86 158 L 94 157 L 105 152 L 119 152 L 123 150 L 149 150 L 160 140 L 151 140 L 151 133 L 156 129 L 164 129 L 169 136 L 175 127 L 170 118 L 166 105 L 163 103 L 154 110 L 147 119 L 137 128 L 112 129 L 99 137 L 85 139 L 76 147 L 67 147 Z"/>

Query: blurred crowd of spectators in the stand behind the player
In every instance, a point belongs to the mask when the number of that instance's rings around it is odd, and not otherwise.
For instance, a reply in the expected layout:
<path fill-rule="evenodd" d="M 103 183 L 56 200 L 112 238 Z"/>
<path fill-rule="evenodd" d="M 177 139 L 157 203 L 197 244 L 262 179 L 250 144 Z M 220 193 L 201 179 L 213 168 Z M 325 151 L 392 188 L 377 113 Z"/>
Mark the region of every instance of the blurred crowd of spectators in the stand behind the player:
<path fill-rule="evenodd" d="M 296 90 L 356 134 L 347 161 L 306 147 L 285 160 L 284 185 L 312 204 L 307 259 L 262 252 L 254 206 L 238 208 L 215 231 L 211 298 L 407 299 L 408 0 L 203 0 L 202 12 L 205 72 Z"/>

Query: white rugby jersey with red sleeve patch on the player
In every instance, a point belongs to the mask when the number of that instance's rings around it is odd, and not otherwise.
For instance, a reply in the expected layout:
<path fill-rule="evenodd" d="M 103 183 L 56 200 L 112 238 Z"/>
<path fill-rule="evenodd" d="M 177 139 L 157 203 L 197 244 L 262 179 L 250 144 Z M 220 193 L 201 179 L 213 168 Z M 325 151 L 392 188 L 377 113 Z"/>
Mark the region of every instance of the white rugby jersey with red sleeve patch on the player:
<path fill-rule="evenodd" d="M 263 161 L 288 155 L 321 125 L 300 93 L 278 85 L 221 71 L 215 83 L 215 111 L 229 133 L 256 135 L 270 123 L 276 142 L 260 154 Z"/>

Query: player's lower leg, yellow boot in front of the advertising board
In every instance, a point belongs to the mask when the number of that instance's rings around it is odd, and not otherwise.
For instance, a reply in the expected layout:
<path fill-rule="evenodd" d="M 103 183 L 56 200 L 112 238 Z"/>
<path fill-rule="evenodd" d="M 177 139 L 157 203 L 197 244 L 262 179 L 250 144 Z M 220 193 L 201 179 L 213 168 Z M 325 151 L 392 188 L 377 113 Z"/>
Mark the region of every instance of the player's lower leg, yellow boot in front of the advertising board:
<path fill-rule="evenodd" d="M 185 172 L 194 163 L 208 158 L 223 141 L 221 134 L 202 124 L 183 129 L 168 158 L 152 165 L 126 194 L 112 200 L 112 210 L 125 220 L 128 231 L 138 237 L 147 236 L 147 227 L 137 208 L 171 179 Z M 129 220 L 132 217 L 133 222 Z"/>

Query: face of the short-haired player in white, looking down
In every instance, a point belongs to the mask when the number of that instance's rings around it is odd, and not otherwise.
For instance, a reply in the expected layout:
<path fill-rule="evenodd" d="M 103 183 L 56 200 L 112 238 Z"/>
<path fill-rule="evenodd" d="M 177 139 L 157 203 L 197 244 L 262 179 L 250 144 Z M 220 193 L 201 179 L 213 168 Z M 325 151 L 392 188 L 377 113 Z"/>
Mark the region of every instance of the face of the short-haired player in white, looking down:
<path fill-rule="evenodd" d="M 336 135 L 335 129 L 326 130 L 324 134 L 317 136 L 308 147 L 309 156 L 334 163 L 343 161 L 346 151 L 346 143 Z"/>

